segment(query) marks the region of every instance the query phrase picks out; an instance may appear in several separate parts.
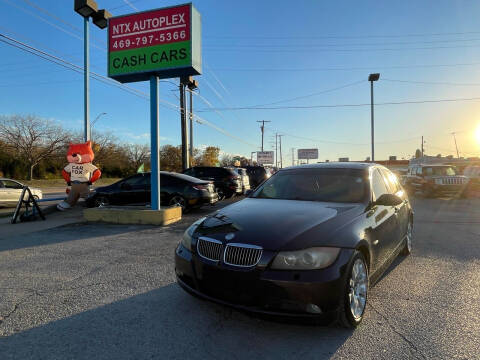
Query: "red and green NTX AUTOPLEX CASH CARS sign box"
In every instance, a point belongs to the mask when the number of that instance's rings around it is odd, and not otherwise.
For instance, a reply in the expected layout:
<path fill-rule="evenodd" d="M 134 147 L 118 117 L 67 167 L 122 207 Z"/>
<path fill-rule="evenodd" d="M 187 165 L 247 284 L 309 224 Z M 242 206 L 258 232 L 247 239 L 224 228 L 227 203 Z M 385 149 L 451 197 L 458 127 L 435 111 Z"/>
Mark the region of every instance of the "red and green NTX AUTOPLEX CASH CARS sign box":
<path fill-rule="evenodd" d="M 184 4 L 112 17 L 108 76 L 122 83 L 200 75 L 200 13 Z"/>

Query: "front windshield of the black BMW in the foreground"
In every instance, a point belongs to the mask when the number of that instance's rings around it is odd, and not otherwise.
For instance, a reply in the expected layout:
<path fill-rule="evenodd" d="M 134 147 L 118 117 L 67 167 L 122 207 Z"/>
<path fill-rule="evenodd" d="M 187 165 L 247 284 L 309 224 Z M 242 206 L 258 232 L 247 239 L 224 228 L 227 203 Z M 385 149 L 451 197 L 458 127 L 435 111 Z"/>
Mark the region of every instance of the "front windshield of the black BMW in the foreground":
<path fill-rule="evenodd" d="M 358 203 L 367 194 L 366 172 L 360 169 L 294 169 L 279 171 L 253 198 Z"/>

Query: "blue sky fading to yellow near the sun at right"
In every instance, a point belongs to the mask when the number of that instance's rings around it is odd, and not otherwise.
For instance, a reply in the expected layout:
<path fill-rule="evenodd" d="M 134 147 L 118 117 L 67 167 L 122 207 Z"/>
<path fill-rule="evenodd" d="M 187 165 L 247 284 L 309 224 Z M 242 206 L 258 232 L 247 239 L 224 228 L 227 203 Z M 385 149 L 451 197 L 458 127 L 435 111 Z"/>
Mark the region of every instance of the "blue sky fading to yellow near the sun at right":
<path fill-rule="evenodd" d="M 98 0 L 114 16 L 182 4 Z M 194 109 L 197 147 L 247 157 L 282 136 L 284 165 L 299 148 L 319 161 L 480 154 L 479 1 L 202 0 L 203 73 Z M 0 0 L 0 34 L 83 66 L 83 19 L 72 1 Z M 91 31 L 91 71 L 107 76 L 107 31 Z M 2 39 L 0 37 L 0 39 Z M 4 38 L 3 38 L 4 39 Z M 0 42 L 0 115 L 34 114 L 83 130 L 83 75 Z M 160 85 L 161 144 L 181 143 L 178 79 Z M 94 128 L 149 144 L 149 84 L 91 80 Z M 129 90 L 130 89 L 130 90 Z M 132 94 L 131 89 L 140 91 Z M 145 94 L 145 95 L 143 95 Z M 462 100 L 463 99 L 463 100 Z M 469 100 L 465 100 L 469 99 Z M 438 100 L 442 100 L 438 102 Z M 262 106 L 259 106 L 262 105 Z M 257 107 L 257 109 L 252 109 Z M 260 109 L 259 109 L 260 107 Z"/>

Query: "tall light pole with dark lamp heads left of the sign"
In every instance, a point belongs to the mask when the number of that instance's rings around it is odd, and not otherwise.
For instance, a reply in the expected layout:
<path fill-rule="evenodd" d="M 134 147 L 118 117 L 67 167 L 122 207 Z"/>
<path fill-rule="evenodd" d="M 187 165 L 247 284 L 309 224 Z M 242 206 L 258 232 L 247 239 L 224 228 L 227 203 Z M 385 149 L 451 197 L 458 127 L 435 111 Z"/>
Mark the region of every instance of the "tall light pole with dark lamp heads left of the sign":
<path fill-rule="evenodd" d="M 94 0 L 75 0 L 75 11 L 83 17 L 83 106 L 84 106 L 84 137 L 85 142 L 90 140 L 90 51 L 89 51 L 89 20 L 100 29 L 105 29 L 108 19 L 112 16 L 107 10 L 98 10 Z"/>

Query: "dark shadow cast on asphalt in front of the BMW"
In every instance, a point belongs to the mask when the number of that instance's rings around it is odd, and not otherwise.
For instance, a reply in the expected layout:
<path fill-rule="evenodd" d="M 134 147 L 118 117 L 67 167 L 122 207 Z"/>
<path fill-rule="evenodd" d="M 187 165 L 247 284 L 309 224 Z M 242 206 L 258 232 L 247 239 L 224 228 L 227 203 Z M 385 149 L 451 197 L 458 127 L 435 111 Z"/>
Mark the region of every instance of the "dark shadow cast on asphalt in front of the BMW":
<path fill-rule="evenodd" d="M 0 349 L 15 359 L 321 359 L 351 335 L 245 316 L 174 283 L 0 337 Z"/>

